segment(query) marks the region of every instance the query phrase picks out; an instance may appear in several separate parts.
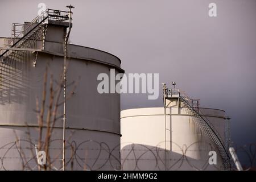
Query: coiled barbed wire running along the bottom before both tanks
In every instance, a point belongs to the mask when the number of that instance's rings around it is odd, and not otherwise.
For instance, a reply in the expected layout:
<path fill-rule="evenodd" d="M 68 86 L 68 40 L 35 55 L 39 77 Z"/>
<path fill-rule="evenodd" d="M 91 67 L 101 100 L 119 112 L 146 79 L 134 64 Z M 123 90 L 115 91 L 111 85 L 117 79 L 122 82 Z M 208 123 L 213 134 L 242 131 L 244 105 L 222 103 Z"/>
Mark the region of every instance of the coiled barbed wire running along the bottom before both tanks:
<path fill-rule="evenodd" d="M 50 170 L 61 170 L 62 139 L 50 141 L 50 156 L 47 166 Z M 163 143 L 147 146 L 137 143 L 113 145 L 106 142 L 84 140 L 67 142 L 65 148 L 68 170 L 222 170 L 224 162 L 217 160 L 217 165 L 210 165 L 209 151 L 214 151 L 209 142 L 194 142 L 187 145 L 171 143 L 173 150 L 164 150 Z M 36 142 L 35 142 L 36 143 Z M 28 139 L 19 139 L 0 147 L 0 170 L 38 170 L 36 144 Z M 249 166 L 255 168 L 256 143 L 234 147 L 238 156 L 243 152 L 249 160 Z M 167 154 L 167 155 L 166 155 Z M 167 157 L 166 157 L 167 156 Z M 42 166 L 41 166 L 42 167 Z M 236 170 L 232 166 L 232 170 Z"/>

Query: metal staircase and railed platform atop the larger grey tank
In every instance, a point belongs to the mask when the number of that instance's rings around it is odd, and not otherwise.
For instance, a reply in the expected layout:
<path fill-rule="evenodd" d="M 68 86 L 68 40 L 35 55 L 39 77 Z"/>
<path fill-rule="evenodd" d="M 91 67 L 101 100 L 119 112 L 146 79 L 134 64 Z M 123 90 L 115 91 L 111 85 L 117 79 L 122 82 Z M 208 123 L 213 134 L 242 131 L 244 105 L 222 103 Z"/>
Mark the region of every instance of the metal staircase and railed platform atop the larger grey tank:
<path fill-rule="evenodd" d="M 49 22 L 67 22 L 69 16 L 72 14 L 68 11 L 47 9 L 30 23 L 13 23 L 12 38 L 8 40 L 6 47 L 0 48 L 0 78 L 14 61 L 24 60 L 27 52 L 37 53 L 44 49 Z M 18 27 L 21 27 L 21 30 Z M 42 40 L 42 44 L 39 44 L 38 40 Z M 33 65 L 35 66 L 35 63 Z"/>

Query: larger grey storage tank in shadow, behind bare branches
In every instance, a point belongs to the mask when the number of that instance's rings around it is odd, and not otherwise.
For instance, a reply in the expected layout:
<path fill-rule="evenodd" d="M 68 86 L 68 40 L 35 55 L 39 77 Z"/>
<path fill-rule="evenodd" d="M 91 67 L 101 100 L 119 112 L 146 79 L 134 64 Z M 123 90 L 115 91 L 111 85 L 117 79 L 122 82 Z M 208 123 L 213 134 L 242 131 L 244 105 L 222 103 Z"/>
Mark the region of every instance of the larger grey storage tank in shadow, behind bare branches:
<path fill-rule="evenodd" d="M 48 9 L 32 22 L 13 24 L 13 38 L 0 39 L 1 170 L 62 169 L 63 151 L 68 170 L 120 168 L 120 96 L 98 93 L 97 76 L 112 68 L 123 73 L 121 60 L 68 44 L 64 78 L 71 16 Z M 46 152 L 46 164 L 42 158 L 39 166 L 40 152 Z"/>

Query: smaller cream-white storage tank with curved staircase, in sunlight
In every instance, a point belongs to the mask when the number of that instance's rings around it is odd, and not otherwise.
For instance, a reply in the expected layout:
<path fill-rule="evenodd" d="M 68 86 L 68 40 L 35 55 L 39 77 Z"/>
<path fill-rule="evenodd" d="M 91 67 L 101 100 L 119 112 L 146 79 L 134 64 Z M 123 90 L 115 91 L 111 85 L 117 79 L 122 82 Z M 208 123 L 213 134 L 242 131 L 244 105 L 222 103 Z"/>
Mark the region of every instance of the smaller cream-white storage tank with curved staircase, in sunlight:
<path fill-rule="evenodd" d="M 166 89 L 165 107 L 121 111 L 123 170 L 226 170 L 225 111 Z"/>

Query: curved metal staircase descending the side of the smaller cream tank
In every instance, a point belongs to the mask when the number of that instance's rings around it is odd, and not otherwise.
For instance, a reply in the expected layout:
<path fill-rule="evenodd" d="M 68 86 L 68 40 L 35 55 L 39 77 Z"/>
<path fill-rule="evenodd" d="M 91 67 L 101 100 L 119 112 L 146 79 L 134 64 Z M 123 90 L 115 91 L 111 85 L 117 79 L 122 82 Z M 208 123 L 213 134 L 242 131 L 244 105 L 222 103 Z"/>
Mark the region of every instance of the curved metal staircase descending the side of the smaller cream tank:
<path fill-rule="evenodd" d="M 228 150 L 226 150 L 225 143 L 218 131 L 214 129 L 209 119 L 200 111 L 198 105 L 195 107 L 193 100 L 189 98 L 185 92 L 180 92 L 179 89 L 165 89 L 164 94 L 164 98 L 179 98 L 183 105 L 189 110 L 189 113 L 195 117 L 196 124 L 199 126 L 200 130 L 213 142 L 214 146 L 216 146 L 216 152 L 221 156 L 223 161 L 223 169 L 230 170 L 230 156 Z"/>

